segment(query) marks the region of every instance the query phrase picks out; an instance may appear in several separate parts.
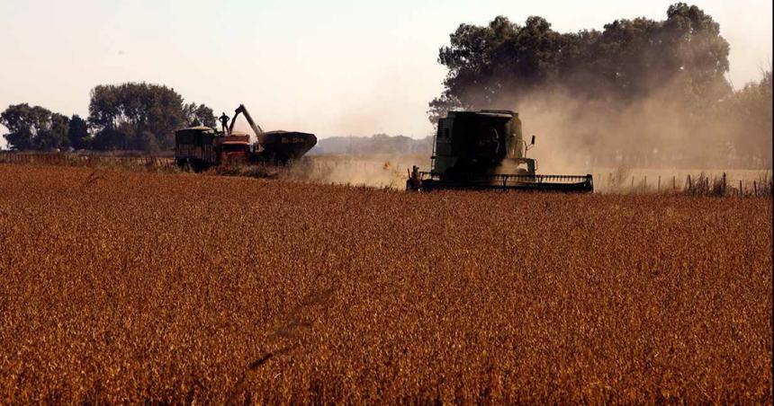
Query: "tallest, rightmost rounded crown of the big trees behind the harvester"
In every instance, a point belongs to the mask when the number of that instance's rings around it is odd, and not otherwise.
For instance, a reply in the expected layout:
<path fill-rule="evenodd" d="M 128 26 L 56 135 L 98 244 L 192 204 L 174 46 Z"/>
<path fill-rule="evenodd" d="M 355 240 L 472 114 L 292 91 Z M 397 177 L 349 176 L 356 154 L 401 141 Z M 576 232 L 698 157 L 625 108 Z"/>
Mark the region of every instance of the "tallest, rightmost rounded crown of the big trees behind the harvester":
<path fill-rule="evenodd" d="M 618 99 L 633 100 L 664 85 L 675 87 L 688 102 L 716 100 L 731 90 L 725 80 L 728 42 L 719 24 L 695 5 L 672 4 L 662 22 L 638 18 L 606 24 L 590 47 L 590 66 L 579 67 L 599 72 L 602 87 L 595 91 L 604 89 Z"/>

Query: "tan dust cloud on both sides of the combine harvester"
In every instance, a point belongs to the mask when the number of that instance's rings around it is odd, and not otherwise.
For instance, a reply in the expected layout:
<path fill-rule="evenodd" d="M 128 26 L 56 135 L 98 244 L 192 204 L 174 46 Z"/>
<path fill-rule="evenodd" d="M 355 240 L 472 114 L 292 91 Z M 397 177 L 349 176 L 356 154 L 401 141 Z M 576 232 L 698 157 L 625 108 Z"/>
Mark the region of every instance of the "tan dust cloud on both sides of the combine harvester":
<path fill-rule="evenodd" d="M 760 123 L 734 111 L 682 97 L 677 84 L 619 103 L 544 87 L 489 108 L 518 111 L 525 140 L 536 135 L 527 157 L 542 174 L 770 170 L 770 128 L 761 133 Z M 428 170 L 429 154 L 314 155 L 290 172 L 304 181 L 402 189 L 415 164 Z"/>

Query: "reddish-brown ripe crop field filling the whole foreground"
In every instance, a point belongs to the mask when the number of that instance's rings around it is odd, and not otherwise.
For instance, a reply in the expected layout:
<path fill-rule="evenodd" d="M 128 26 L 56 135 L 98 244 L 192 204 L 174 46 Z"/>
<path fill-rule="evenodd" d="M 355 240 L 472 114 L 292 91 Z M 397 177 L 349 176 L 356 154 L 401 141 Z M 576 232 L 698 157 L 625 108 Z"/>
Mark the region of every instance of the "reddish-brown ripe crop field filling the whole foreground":
<path fill-rule="evenodd" d="M 771 402 L 771 199 L 0 166 L 0 402 Z"/>

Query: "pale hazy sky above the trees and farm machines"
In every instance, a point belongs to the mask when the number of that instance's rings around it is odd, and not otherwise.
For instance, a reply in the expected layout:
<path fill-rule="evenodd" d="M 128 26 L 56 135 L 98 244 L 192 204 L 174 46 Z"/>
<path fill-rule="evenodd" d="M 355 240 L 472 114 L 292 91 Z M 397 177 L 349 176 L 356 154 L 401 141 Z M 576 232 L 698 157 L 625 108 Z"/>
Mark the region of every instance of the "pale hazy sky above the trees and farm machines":
<path fill-rule="evenodd" d="M 29 102 L 87 116 L 94 85 L 145 81 L 217 114 L 245 103 L 266 129 L 424 137 L 446 75 L 438 48 L 461 22 L 541 15 L 557 31 L 602 29 L 617 18 L 663 20 L 669 4 L 0 0 L 0 109 Z M 690 4 L 720 22 L 736 87 L 770 66 L 770 1 Z"/>

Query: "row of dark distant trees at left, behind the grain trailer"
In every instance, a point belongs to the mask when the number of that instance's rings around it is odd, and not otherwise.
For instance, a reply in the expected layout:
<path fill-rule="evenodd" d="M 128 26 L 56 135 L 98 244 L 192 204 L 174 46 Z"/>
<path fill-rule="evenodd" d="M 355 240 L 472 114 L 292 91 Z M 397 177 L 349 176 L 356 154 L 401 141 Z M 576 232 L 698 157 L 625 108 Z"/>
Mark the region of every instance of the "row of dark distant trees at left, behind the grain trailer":
<path fill-rule="evenodd" d="M 0 113 L 4 138 L 14 150 L 157 152 L 174 147 L 176 128 L 215 127 L 212 109 L 184 103 L 175 89 L 158 84 L 104 84 L 91 91 L 88 118 L 70 117 L 20 103 Z"/>

